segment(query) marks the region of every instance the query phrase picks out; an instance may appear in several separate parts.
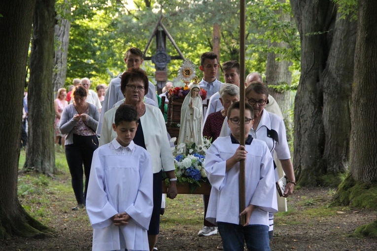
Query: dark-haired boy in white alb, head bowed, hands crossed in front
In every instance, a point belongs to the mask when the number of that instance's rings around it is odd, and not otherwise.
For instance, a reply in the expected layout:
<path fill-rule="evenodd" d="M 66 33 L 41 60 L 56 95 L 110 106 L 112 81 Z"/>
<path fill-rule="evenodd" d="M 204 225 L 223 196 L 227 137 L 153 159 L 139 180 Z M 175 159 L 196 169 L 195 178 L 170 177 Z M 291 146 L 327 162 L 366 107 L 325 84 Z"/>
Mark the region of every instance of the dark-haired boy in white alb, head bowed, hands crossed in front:
<path fill-rule="evenodd" d="M 137 111 L 121 105 L 110 143 L 93 154 L 86 210 L 93 227 L 93 251 L 149 251 L 147 230 L 153 209 L 152 161 L 133 142 Z"/>

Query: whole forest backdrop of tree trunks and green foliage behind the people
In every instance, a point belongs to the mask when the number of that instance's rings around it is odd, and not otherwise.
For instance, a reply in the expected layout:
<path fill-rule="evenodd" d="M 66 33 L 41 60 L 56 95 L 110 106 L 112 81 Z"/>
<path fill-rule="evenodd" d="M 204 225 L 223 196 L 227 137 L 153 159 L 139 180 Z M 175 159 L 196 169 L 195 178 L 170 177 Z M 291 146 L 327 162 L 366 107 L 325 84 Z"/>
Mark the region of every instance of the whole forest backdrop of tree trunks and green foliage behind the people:
<path fill-rule="evenodd" d="M 89 77 L 92 88 L 108 83 L 125 70 L 127 48 L 145 48 L 162 14 L 177 46 L 197 67 L 200 55 L 215 50 L 218 41 L 220 63 L 239 60 L 239 1 L 130 3 L 9 0 L 0 6 L 0 34 L 7 35 L 0 40 L 0 83 L 14 94 L 1 95 L 0 101 L 1 121 L 7 122 L 0 124 L 0 144 L 9 146 L 0 152 L 0 186 L 7 188 L 0 189 L 1 238 L 46 231 L 25 213 L 16 192 L 26 83 L 24 169 L 53 176 L 54 92 L 75 77 Z M 376 10 L 372 0 L 250 0 L 245 36 L 246 73 L 264 74 L 284 112 L 298 184 L 338 186 L 335 202 L 372 209 L 377 207 Z M 169 42 L 167 52 L 175 55 Z M 147 55 L 154 53 L 152 44 Z M 168 65 L 170 80 L 180 64 Z M 146 61 L 143 69 L 153 80 L 153 64 Z"/>

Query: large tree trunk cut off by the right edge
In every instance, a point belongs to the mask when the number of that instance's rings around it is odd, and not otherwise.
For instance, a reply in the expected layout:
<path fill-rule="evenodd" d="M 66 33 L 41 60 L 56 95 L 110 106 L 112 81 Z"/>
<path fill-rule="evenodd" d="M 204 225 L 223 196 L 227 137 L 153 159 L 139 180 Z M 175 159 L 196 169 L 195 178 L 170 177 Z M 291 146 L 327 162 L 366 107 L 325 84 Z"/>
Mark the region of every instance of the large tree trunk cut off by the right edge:
<path fill-rule="evenodd" d="M 377 183 L 377 26 L 375 0 L 360 0 L 352 84 L 350 174 Z"/>

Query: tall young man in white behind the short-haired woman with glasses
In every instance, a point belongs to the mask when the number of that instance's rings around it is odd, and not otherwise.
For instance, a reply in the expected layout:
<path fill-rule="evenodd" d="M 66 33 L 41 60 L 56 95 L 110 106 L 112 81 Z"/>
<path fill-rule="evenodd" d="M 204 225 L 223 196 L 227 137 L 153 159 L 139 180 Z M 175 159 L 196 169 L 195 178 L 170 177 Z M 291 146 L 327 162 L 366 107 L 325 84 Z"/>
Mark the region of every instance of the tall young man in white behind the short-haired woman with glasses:
<path fill-rule="evenodd" d="M 126 55 L 124 58 L 124 63 L 127 65 L 128 68 L 140 68 L 140 65 L 143 63 L 143 53 L 140 49 L 131 47 L 126 51 Z M 102 123 L 103 123 L 103 116 L 106 111 L 111 109 L 115 103 L 124 99 L 123 93 L 120 90 L 120 80 L 122 74 L 119 74 L 117 77 L 111 79 L 110 84 L 107 87 L 107 91 L 105 93 L 105 97 L 103 100 L 103 108 L 100 115 L 100 120 L 98 121 L 98 127 L 96 134 L 101 136 L 102 130 Z M 156 87 L 154 84 L 149 81 L 149 90 L 148 94 L 145 97 L 152 99 L 156 104 L 158 104 L 157 96 L 156 96 Z"/>

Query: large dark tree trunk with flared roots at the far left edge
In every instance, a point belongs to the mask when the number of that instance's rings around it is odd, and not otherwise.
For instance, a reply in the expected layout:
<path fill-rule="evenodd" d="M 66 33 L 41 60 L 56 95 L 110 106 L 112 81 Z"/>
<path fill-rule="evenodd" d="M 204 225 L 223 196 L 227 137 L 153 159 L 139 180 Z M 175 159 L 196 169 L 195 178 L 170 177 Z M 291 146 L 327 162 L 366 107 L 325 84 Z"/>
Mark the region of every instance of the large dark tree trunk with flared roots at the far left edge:
<path fill-rule="evenodd" d="M 0 239 L 43 235 L 40 231 L 46 230 L 17 198 L 22 98 L 34 8 L 35 0 L 0 4 L 0 84 L 8 93 L 0 95 Z"/>

